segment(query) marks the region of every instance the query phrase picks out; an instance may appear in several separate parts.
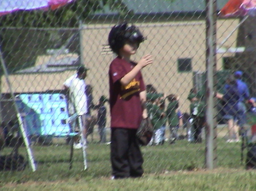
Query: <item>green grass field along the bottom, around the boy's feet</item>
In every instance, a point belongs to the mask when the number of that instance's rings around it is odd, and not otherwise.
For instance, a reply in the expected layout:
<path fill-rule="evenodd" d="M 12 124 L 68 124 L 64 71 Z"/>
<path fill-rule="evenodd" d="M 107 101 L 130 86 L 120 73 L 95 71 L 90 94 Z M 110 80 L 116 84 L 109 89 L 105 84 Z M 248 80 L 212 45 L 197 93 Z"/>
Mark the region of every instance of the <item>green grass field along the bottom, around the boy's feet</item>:
<path fill-rule="evenodd" d="M 3 154 L 10 153 L 5 148 Z M 0 190 L 256 190 L 256 172 L 241 163 L 241 143 L 217 141 L 217 168 L 204 168 L 205 144 L 180 140 L 175 145 L 142 147 L 141 179 L 110 180 L 110 146 L 89 143 L 88 169 L 75 150 L 69 169 L 70 147 L 64 143 L 32 146 L 36 172 L 1 172 Z M 20 154 L 26 155 L 24 147 Z"/>

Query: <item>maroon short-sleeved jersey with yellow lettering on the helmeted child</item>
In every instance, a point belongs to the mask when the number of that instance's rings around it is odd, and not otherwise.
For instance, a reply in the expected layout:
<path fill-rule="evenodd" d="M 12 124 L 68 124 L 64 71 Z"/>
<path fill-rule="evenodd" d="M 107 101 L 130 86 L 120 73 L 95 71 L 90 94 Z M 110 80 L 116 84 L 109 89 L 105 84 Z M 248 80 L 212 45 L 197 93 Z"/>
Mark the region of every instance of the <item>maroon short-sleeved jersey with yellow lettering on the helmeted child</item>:
<path fill-rule="evenodd" d="M 136 65 L 117 57 L 109 67 L 111 128 L 137 129 L 142 120 L 139 93 L 145 90 L 141 71 L 127 86 L 120 80 Z"/>

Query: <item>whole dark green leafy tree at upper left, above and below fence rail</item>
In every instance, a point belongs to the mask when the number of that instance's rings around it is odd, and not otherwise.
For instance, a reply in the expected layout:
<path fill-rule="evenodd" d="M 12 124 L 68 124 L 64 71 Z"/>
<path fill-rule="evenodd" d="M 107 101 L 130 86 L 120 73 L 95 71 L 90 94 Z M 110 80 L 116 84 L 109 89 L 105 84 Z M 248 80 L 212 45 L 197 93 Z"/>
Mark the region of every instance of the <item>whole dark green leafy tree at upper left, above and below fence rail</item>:
<path fill-rule="evenodd" d="M 87 22 L 90 15 L 104 10 L 106 6 L 118 12 L 121 18 L 129 12 L 122 0 L 75 0 L 54 11 L 15 11 L 1 16 L 0 45 L 7 69 L 13 73 L 24 67 L 34 66 L 39 55 L 45 54 L 47 49 L 60 48 L 73 34 L 76 38 L 67 48 L 71 52 L 80 54 L 77 31 L 79 21 Z M 31 30 L 31 27 L 38 30 Z M 67 30 L 65 29 L 67 27 L 76 29 Z M 64 30 L 46 30 L 46 28 Z M 0 75 L 2 72 L 0 67 Z"/>

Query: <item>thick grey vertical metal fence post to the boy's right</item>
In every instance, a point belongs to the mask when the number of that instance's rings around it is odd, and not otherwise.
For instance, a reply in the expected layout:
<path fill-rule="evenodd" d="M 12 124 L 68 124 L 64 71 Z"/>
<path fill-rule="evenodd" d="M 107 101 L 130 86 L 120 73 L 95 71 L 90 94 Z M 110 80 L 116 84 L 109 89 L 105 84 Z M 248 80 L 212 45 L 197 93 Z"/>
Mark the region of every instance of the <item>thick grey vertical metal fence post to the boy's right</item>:
<path fill-rule="evenodd" d="M 216 21 L 217 2 L 216 0 L 206 0 L 206 147 L 205 147 L 205 167 L 213 169 L 216 167 L 216 112 L 214 102 L 214 74 L 216 74 Z"/>

